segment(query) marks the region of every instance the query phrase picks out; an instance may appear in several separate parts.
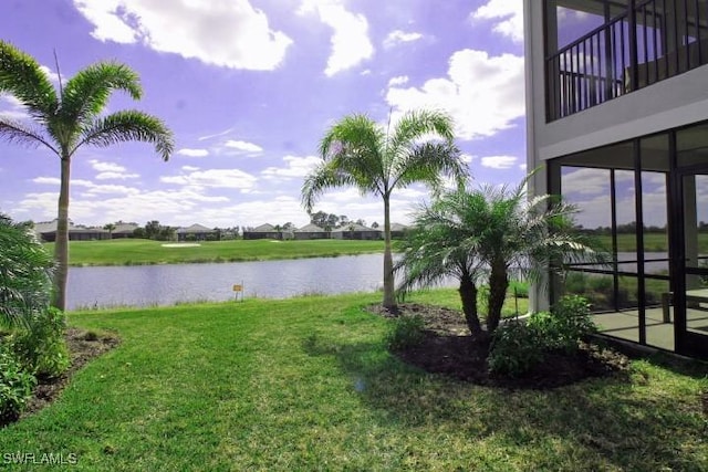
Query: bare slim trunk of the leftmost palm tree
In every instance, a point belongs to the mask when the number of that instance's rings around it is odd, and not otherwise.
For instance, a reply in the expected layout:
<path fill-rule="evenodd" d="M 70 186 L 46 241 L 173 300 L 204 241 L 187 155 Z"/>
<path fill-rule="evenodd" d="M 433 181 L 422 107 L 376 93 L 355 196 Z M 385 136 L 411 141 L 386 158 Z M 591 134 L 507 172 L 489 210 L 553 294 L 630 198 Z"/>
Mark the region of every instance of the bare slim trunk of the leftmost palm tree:
<path fill-rule="evenodd" d="M 66 310 L 66 279 L 69 276 L 69 181 L 70 157 L 61 159 L 61 187 L 59 190 L 59 214 L 56 217 L 56 240 L 54 243 L 54 300 L 52 306 Z"/>

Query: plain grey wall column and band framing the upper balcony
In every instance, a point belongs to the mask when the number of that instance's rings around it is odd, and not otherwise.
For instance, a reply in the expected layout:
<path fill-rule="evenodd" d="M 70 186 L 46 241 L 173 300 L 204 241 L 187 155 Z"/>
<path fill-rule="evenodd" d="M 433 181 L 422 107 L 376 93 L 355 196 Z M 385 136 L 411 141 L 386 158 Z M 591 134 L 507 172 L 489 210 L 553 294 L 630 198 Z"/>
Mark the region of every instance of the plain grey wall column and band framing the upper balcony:
<path fill-rule="evenodd" d="M 708 66 L 545 123 L 543 2 L 524 0 L 529 169 L 543 160 L 708 119 Z"/>

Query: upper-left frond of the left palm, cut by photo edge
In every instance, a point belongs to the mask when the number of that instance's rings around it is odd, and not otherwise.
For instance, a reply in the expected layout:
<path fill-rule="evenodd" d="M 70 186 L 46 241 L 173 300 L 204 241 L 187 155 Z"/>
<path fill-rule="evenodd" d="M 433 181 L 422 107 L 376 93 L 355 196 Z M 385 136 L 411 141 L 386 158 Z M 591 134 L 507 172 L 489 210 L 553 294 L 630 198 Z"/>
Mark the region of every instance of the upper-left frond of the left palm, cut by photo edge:
<path fill-rule="evenodd" d="M 0 93 L 13 95 L 40 123 L 48 123 L 59 108 L 56 91 L 31 55 L 0 41 Z"/>

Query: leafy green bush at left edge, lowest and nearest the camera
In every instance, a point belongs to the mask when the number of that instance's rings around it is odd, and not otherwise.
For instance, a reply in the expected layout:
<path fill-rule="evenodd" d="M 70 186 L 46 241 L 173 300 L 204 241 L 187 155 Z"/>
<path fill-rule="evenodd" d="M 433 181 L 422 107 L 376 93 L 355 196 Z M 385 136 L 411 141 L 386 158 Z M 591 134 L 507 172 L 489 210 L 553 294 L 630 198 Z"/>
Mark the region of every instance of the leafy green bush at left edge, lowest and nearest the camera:
<path fill-rule="evenodd" d="M 35 385 L 37 378 L 22 368 L 6 345 L 0 345 L 0 424 L 18 419 Z"/>

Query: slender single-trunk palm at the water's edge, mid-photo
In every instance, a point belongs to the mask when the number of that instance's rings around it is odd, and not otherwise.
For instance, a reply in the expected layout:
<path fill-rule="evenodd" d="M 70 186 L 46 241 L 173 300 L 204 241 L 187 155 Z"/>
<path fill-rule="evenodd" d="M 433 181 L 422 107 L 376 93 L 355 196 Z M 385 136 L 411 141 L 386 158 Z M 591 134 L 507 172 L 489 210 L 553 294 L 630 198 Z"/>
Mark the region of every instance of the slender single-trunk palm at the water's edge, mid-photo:
<path fill-rule="evenodd" d="M 391 248 L 391 196 L 395 189 L 424 182 L 438 191 L 441 176 L 462 182 L 467 169 L 454 143 L 451 118 L 436 111 L 413 111 L 391 129 L 354 114 L 335 123 L 320 144 L 320 164 L 302 186 L 302 202 L 312 211 L 327 189 L 355 186 L 384 202 L 384 307 L 395 311 Z"/>

